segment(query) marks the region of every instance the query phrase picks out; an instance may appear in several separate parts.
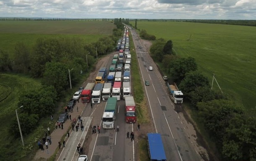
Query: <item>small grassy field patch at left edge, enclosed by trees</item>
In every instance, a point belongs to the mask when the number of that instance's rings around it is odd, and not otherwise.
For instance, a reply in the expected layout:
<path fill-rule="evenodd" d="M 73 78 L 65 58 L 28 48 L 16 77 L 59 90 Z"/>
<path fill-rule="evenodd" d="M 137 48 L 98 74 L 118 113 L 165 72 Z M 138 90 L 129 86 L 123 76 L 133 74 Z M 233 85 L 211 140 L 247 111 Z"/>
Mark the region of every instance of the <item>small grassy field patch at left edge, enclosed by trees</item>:
<path fill-rule="evenodd" d="M 36 89 L 40 86 L 39 82 L 31 78 L 0 74 L 0 148 L 5 144 L 10 145 L 7 127 L 10 126 L 11 120 L 16 118 L 15 110 L 18 108 L 19 95 L 26 89 Z"/>

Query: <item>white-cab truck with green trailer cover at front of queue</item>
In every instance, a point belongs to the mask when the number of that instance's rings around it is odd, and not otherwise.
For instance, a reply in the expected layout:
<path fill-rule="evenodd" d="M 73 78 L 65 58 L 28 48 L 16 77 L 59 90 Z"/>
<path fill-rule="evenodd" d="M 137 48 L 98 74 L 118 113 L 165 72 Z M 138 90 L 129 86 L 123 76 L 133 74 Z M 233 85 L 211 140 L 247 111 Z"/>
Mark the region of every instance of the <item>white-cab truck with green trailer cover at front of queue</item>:
<path fill-rule="evenodd" d="M 116 109 L 117 109 L 117 98 L 110 97 L 107 100 L 105 110 L 102 116 L 102 126 L 104 129 L 114 128 Z"/>

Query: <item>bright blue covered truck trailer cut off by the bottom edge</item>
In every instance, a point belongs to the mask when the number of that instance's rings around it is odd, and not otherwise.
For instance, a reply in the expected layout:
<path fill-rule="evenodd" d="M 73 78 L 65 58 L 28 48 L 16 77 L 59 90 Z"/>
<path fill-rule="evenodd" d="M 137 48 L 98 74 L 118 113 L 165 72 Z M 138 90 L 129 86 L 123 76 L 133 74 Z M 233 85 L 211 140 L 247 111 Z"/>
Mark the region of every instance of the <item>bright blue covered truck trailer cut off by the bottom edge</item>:
<path fill-rule="evenodd" d="M 165 149 L 159 133 L 148 133 L 148 151 L 150 161 L 166 161 Z"/>

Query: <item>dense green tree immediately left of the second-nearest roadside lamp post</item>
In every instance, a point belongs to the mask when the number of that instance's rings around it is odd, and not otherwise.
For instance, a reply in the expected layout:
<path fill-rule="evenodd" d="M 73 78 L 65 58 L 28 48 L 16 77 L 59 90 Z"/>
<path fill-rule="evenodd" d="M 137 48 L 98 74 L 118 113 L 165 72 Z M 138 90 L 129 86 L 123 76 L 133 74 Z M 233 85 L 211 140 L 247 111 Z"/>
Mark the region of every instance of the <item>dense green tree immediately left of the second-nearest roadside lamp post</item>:
<path fill-rule="evenodd" d="M 47 62 L 43 79 L 43 84 L 53 86 L 56 92 L 61 95 L 69 85 L 68 66 L 58 62 Z"/>

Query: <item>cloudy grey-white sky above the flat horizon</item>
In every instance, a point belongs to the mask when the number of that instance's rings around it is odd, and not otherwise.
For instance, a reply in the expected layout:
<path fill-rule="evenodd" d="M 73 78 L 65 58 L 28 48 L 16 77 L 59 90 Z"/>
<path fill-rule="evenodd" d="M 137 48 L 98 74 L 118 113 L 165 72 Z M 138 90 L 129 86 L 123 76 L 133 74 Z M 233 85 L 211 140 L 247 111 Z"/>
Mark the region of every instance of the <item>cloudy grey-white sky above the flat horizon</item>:
<path fill-rule="evenodd" d="M 256 19 L 256 0 L 0 0 L 0 17 Z"/>

